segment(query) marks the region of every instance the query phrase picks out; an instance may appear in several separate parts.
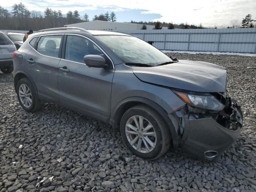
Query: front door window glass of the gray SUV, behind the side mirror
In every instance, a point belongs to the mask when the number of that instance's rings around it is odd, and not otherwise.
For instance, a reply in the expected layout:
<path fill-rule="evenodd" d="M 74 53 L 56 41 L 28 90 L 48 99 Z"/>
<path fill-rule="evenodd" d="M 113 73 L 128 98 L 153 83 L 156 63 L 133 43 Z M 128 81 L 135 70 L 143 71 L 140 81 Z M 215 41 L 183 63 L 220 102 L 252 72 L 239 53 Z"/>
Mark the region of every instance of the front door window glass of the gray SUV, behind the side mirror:
<path fill-rule="evenodd" d="M 68 35 L 65 48 L 65 59 L 84 63 L 86 55 L 104 55 L 100 49 L 81 36 Z"/>

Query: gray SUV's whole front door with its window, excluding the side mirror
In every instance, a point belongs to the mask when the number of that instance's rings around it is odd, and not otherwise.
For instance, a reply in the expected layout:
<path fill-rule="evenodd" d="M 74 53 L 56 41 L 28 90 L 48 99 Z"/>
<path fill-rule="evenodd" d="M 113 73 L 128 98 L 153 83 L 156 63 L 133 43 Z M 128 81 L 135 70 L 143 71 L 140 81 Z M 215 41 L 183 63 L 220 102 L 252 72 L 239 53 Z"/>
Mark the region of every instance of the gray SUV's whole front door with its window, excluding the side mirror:
<path fill-rule="evenodd" d="M 98 54 L 112 63 L 88 38 L 67 35 L 64 56 L 58 65 L 60 104 L 107 121 L 114 69 L 89 68 L 83 60 L 88 54 Z"/>

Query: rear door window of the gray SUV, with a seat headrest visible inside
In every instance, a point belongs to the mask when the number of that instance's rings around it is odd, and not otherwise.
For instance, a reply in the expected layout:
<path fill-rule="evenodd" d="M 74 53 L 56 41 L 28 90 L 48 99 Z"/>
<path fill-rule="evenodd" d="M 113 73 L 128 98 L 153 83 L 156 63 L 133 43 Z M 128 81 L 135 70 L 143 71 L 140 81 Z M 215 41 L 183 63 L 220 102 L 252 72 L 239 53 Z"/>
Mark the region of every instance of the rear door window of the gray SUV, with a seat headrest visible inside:
<path fill-rule="evenodd" d="M 42 36 L 37 44 L 37 51 L 43 55 L 58 57 L 61 35 Z"/>

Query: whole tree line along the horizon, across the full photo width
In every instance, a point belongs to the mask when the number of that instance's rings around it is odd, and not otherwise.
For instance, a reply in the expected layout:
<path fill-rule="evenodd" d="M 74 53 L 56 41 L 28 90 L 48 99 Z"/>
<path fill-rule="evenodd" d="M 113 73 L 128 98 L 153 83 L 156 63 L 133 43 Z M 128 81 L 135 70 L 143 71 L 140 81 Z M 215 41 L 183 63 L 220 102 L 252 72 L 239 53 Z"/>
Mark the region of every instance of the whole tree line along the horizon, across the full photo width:
<path fill-rule="evenodd" d="M 102 20 L 115 22 L 116 14 L 114 12 L 106 12 L 104 14 L 94 15 L 92 20 Z M 66 14 L 62 14 L 61 10 L 52 10 L 51 8 L 46 8 L 44 12 L 36 10 L 28 10 L 22 2 L 19 4 L 14 4 L 12 10 L 9 11 L 6 8 L 0 6 L 0 28 L 8 30 L 41 30 L 45 28 L 55 28 L 63 27 L 66 24 L 88 22 L 89 15 L 84 14 L 80 16 L 78 10 L 68 11 Z M 231 20 L 229 25 L 224 26 L 214 26 L 213 28 L 251 28 L 256 27 L 256 20 L 252 19 L 251 14 L 247 14 L 242 22 L 239 20 Z M 173 24 L 168 22 L 135 22 L 130 23 L 143 24 L 141 29 L 147 29 L 146 25 L 153 25 L 154 29 L 162 29 L 162 27 L 167 27 L 168 29 L 180 28 L 180 29 L 202 29 L 206 28 L 202 24 L 193 25 L 186 23 Z"/>

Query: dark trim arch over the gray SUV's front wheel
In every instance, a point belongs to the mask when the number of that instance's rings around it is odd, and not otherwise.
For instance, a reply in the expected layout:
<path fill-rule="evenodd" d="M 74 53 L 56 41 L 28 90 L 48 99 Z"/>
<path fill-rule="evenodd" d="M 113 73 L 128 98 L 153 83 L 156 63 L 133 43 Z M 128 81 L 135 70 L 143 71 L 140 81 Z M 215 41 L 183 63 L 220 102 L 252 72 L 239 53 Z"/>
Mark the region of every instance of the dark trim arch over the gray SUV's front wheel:
<path fill-rule="evenodd" d="M 126 98 L 126 99 L 122 100 L 121 102 L 119 102 L 117 104 L 116 108 L 113 110 L 112 114 L 110 114 L 110 125 L 112 126 L 114 131 L 119 131 L 120 121 L 121 121 L 121 118 L 122 118 L 124 112 L 126 112 L 126 110 L 128 110 L 129 108 L 132 108 L 133 106 L 136 106 L 139 104 L 145 104 L 145 105 L 149 106 L 150 108 L 152 108 L 153 110 L 158 112 L 158 114 L 160 114 L 160 116 L 162 116 L 162 118 L 164 119 L 166 125 L 168 126 L 168 128 L 170 130 L 174 147 L 175 148 L 178 147 L 177 146 L 178 145 L 178 134 L 174 128 L 174 125 L 172 124 L 172 121 L 168 117 L 168 113 L 161 106 L 159 106 L 158 104 L 156 104 L 155 102 L 153 102 L 147 98 L 130 97 L 130 98 Z"/>

